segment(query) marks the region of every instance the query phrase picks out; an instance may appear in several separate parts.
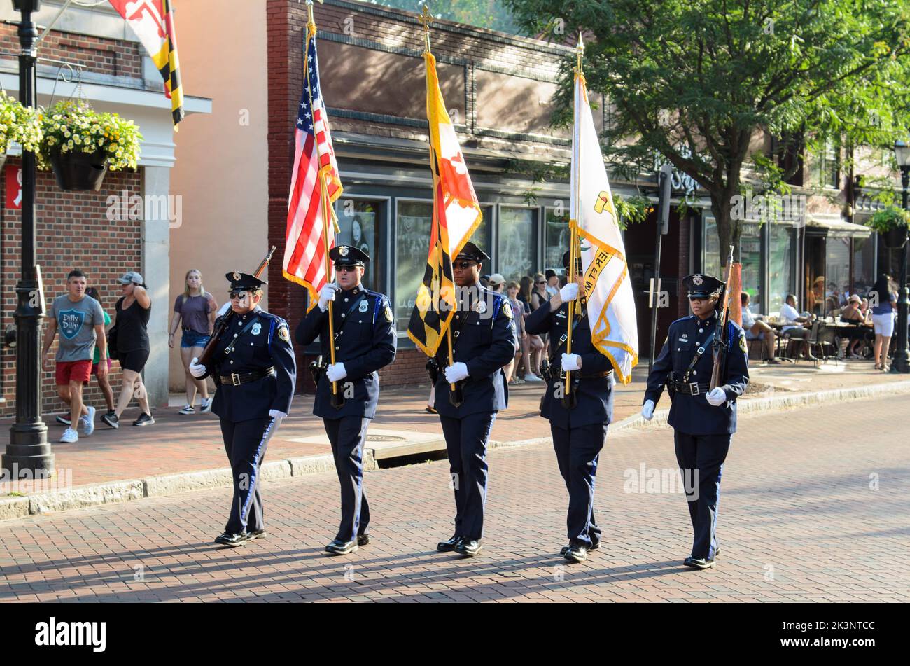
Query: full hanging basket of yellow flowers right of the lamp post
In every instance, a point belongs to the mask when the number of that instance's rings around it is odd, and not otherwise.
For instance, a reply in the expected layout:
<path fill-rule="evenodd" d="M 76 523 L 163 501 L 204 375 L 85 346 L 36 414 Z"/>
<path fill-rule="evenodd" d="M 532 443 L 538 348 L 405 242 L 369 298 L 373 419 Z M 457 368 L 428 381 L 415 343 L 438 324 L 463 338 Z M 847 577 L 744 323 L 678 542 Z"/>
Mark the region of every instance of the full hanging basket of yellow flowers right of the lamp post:
<path fill-rule="evenodd" d="M 38 167 L 65 190 L 101 188 L 108 170 L 136 168 L 142 135 L 132 120 L 96 113 L 85 102 L 57 102 L 42 117 Z"/>

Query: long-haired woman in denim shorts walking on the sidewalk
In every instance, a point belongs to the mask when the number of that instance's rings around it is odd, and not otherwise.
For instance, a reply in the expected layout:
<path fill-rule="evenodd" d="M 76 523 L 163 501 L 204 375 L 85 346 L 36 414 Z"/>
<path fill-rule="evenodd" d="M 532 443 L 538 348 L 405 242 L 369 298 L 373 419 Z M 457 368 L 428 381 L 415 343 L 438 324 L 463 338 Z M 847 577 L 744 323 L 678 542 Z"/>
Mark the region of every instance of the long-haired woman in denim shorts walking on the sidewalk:
<path fill-rule="evenodd" d="M 167 346 L 174 348 L 177 330 L 182 330 L 180 335 L 180 360 L 186 374 L 187 404 L 177 414 L 193 414 L 196 412 L 196 394 L 201 399 L 200 412 L 212 409 L 212 400 L 208 397 L 208 384 L 202 379 L 197 379 L 189 373 L 189 364 L 193 358 L 202 356 L 208 340 L 212 336 L 215 325 L 218 304 L 215 297 L 206 291 L 202 284 L 202 273 L 197 268 L 187 271 L 184 278 L 183 293 L 174 301 L 174 316 L 171 317 L 170 328 L 167 333 Z"/>

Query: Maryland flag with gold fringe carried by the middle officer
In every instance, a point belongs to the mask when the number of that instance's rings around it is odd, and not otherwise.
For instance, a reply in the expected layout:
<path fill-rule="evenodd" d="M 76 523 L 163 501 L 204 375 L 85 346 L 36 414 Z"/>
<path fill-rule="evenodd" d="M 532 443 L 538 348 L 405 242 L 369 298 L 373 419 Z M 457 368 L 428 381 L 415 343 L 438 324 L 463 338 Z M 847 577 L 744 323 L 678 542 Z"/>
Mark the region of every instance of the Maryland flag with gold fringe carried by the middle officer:
<path fill-rule="evenodd" d="M 436 58 L 424 53 L 427 64 L 427 119 L 430 121 L 430 168 L 433 172 L 433 222 L 430 255 L 423 284 L 408 324 L 408 337 L 427 356 L 436 354 L 455 314 L 452 259 L 480 227 L 482 215 L 458 136 L 442 100 Z"/>

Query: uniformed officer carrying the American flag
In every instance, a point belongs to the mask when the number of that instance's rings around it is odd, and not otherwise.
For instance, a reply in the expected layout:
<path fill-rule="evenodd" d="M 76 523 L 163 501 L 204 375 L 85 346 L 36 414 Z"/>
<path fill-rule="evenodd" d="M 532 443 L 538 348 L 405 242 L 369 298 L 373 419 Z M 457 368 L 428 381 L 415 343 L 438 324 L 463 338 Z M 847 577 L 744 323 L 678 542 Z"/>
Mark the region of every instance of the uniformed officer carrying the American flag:
<path fill-rule="evenodd" d="M 379 368 L 395 359 L 397 338 L 389 298 L 364 288 L 367 253 L 358 247 L 332 247 L 338 284 L 322 288 L 319 303 L 300 321 L 295 338 L 308 345 L 319 336 L 322 358 L 330 358 L 329 301 L 334 302 L 335 363 L 319 377 L 313 413 L 323 419 L 341 483 L 341 525 L 326 546 L 346 555 L 369 543 L 369 503 L 363 489 L 363 445 L 376 416 Z M 332 382 L 341 399 L 333 405 Z"/>

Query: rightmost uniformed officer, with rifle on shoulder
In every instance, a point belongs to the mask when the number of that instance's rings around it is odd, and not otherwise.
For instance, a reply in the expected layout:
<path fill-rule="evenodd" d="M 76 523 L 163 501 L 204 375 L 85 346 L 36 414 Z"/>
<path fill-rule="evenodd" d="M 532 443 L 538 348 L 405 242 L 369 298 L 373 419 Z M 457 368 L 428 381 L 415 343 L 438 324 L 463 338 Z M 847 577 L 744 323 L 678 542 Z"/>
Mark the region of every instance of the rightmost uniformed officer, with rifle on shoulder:
<path fill-rule="evenodd" d="M 736 431 L 736 399 L 749 383 L 745 333 L 733 322 L 721 330 L 718 300 L 723 282 L 707 275 L 682 278 L 693 314 L 677 319 L 648 376 L 642 416 L 651 420 L 664 385 L 672 401 L 667 422 L 674 429 L 676 459 L 682 468 L 695 538 L 683 564 L 710 569 L 717 545 L 717 500 L 723 461 Z M 715 337 L 724 341 L 723 371 L 710 389 Z M 698 474 L 697 479 L 694 477 Z"/>

